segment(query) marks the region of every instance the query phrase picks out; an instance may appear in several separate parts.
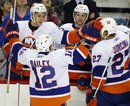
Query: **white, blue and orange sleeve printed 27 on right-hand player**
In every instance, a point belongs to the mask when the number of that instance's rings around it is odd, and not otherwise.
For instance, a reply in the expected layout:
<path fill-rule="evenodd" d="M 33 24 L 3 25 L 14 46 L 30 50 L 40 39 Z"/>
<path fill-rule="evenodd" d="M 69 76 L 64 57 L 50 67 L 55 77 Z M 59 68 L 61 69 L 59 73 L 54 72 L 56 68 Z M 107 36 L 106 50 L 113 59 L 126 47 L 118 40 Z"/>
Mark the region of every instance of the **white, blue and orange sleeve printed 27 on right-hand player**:
<path fill-rule="evenodd" d="M 97 87 L 99 82 L 100 88 L 105 84 L 107 79 L 106 67 L 109 63 L 110 54 L 106 52 L 106 49 L 102 49 L 100 45 L 95 45 L 92 48 L 92 86 Z"/>

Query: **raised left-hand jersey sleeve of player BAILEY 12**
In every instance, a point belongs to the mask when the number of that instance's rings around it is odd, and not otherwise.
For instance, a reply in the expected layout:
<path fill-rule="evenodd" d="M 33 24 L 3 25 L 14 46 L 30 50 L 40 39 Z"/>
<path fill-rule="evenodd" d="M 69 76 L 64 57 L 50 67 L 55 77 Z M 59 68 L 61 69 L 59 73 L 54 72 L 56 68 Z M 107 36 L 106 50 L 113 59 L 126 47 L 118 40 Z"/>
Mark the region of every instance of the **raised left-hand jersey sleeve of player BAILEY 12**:
<path fill-rule="evenodd" d="M 10 49 L 9 61 L 11 61 L 11 66 L 16 69 L 22 69 L 23 64 L 26 64 L 27 59 L 25 58 L 24 52 L 26 48 L 23 47 L 22 43 L 18 38 L 12 38 L 8 42 L 8 48 Z M 23 55 L 24 54 L 24 55 Z M 19 58 L 22 58 L 21 60 Z"/>

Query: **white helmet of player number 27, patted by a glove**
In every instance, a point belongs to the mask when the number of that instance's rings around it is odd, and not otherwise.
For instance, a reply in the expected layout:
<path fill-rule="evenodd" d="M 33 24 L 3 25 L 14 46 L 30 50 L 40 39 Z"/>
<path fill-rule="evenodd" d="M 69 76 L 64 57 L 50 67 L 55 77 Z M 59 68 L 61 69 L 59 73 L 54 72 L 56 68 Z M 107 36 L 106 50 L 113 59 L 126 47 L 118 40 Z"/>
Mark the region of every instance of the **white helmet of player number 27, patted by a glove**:
<path fill-rule="evenodd" d="M 108 38 L 109 35 L 116 33 L 117 24 L 113 18 L 103 18 L 100 22 L 103 25 L 103 28 L 101 30 L 101 36 L 104 39 Z M 107 33 L 107 34 L 104 35 L 104 33 Z"/>

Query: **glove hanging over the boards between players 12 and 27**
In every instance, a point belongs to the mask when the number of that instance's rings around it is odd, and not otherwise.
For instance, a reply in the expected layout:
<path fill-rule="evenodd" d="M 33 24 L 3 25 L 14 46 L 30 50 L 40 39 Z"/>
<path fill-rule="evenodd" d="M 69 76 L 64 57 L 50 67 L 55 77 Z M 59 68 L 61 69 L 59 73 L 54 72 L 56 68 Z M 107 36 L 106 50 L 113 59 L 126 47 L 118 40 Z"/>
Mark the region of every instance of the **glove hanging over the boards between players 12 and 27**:
<path fill-rule="evenodd" d="M 90 80 L 91 80 L 91 78 L 89 78 L 87 75 L 80 75 L 79 79 L 77 81 L 77 88 L 80 91 L 86 90 L 86 88 L 90 84 Z"/>

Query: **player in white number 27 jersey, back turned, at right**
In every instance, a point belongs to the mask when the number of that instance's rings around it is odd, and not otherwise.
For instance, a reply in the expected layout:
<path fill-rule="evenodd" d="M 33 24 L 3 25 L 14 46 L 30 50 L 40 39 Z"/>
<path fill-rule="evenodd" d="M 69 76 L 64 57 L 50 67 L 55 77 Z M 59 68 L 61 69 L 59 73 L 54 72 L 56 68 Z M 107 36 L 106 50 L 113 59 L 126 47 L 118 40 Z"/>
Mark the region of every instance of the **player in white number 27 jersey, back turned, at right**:
<path fill-rule="evenodd" d="M 103 40 L 92 48 L 87 106 L 130 106 L 130 70 L 123 68 L 129 57 L 130 33 L 126 27 L 118 27 L 113 18 L 104 18 L 101 23 Z"/>

